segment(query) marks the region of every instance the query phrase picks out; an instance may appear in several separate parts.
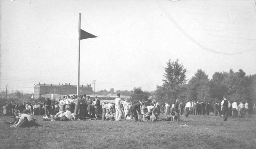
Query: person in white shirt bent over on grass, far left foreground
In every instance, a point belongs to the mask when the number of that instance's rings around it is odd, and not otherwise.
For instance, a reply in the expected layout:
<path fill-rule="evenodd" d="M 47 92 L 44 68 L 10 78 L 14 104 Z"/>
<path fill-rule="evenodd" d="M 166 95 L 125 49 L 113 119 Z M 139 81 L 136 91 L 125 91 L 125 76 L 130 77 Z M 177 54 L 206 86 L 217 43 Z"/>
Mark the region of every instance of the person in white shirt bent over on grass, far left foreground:
<path fill-rule="evenodd" d="M 32 126 L 39 126 L 31 115 L 28 114 L 28 110 L 24 110 L 23 114 L 20 115 L 19 121 L 17 124 L 13 124 L 10 127 L 32 127 Z"/>

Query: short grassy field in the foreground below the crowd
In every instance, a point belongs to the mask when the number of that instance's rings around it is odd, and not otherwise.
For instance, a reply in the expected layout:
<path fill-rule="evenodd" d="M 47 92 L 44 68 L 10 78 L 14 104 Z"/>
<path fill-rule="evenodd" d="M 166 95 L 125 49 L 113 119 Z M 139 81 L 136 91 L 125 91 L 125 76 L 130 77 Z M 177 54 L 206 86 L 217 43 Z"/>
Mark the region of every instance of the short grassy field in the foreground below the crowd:
<path fill-rule="evenodd" d="M 161 115 L 161 117 L 164 117 Z M 10 128 L 0 117 L 0 149 L 256 149 L 256 115 L 244 118 L 181 116 L 182 122 L 43 121 Z M 180 126 L 187 124 L 188 126 Z"/>

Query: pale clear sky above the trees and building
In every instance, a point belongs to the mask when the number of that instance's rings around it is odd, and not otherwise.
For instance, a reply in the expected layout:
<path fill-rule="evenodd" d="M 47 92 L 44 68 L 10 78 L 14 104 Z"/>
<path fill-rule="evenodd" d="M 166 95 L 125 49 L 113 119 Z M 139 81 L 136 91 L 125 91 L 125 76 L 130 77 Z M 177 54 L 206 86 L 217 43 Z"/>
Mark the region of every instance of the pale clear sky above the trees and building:
<path fill-rule="evenodd" d="M 153 91 L 170 59 L 188 70 L 256 74 L 255 0 L 1 0 L 0 90 L 77 84 Z"/>

